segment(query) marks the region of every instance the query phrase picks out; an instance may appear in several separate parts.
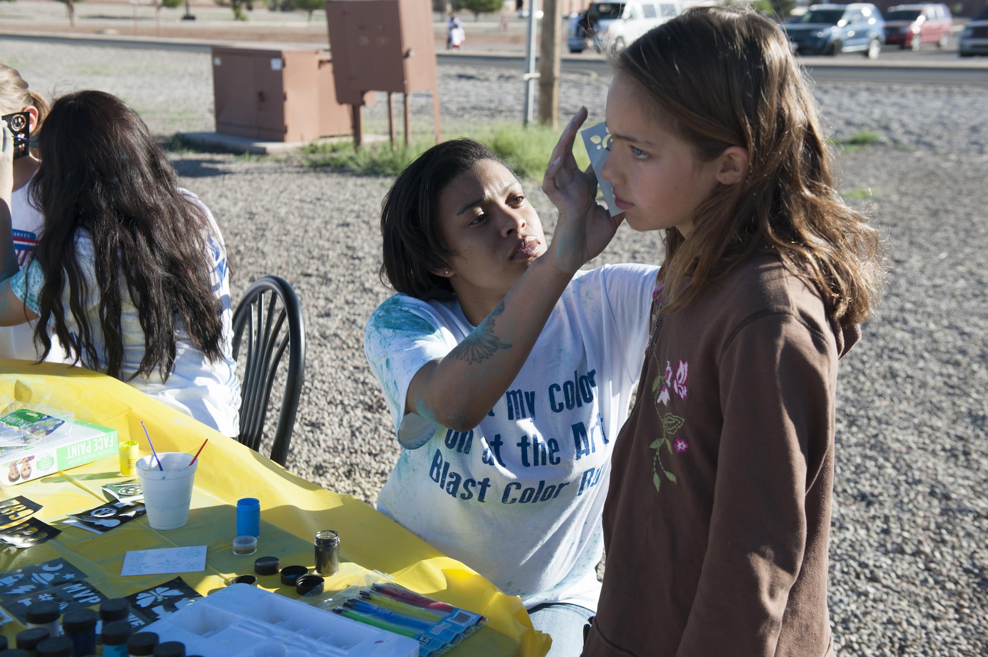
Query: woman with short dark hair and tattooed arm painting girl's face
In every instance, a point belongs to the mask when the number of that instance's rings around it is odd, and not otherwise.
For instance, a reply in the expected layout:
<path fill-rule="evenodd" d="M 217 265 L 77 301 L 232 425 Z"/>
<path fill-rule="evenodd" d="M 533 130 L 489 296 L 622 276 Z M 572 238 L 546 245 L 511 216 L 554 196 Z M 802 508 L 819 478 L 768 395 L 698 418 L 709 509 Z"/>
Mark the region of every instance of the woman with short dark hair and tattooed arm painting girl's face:
<path fill-rule="evenodd" d="M 580 270 L 619 221 L 563 210 L 549 242 L 522 183 L 466 139 L 413 162 L 381 213 L 397 294 L 365 350 L 403 450 L 378 509 L 521 596 L 551 654 L 579 654 L 596 610 L 611 451 L 647 341 L 656 267 Z"/>

